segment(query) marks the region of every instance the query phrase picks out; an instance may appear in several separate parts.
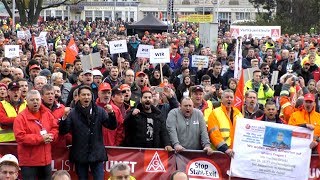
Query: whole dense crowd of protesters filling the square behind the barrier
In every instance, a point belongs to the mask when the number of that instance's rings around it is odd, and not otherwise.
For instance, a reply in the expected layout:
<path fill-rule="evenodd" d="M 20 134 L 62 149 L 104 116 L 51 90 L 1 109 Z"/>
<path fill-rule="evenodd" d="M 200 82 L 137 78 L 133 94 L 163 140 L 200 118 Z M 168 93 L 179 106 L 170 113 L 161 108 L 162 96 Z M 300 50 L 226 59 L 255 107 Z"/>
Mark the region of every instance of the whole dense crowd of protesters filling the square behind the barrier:
<path fill-rule="evenodd" d="M 242 117 L 315 129 L 310 147 L 316 149 L 320 36 L 242 37 L 242 68 L 253 71 L 245 82 L 244 105 L 236 108 L 236 40 L 229 32 L 210 49 L 201 44 L 197 24 L 177 23 L 174 33 L 146 30 L 140 36 L 126 35 L 125 24 L 80 21 L 68 27 L 57 20 L 16 26 L 33 36 L 48 32 L 53 45 L 46 49 L 35 47 L 32 38 L 19 39 L 2 22 L 0 142 L 17 142 L 23 179 L 50 179 L 51 152 L 70 144 L 79 179 L 88 178 L 89 167 L 94 179 L 103 179 L 104 146 L 208 155 L 219 150 L 233 157 L 234 127 Z M 64 67 L 71 38 L 79 53 Z M 123 39 L 128 52 L 110 54 L 109 42 Z M 136 57 L 139 44 L 169 48 L 170 63 Z M 20 56 L 5 57 L 5 45 L 19 45 Z M 81 57 L 95 52 L 102 66 L 83 69 Z M 208 68 L 192 67 L 193 55 L 208 56 Z M 279 71 L 275 85 L 273 71 Z M 302 118 L 306 115 L 309 120 Z"/>

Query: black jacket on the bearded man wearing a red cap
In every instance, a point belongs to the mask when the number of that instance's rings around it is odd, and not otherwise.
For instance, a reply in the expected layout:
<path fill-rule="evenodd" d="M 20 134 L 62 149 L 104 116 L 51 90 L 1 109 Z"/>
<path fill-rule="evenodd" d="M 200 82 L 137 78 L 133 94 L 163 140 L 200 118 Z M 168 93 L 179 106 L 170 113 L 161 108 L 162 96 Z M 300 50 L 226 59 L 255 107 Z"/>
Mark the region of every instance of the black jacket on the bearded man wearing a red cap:
<path fill-rule="evenodd" d="M 137 108 L 140 113 L 133 116 L 132 109 L 124 120 L 125 141 L 127 147 L 141 148 L 164 148 L 170 146 L 169 135 L 166 128 L 166 121 L 162 112 L 151 106 L 152 113 L 143 112 L 142 104 L 139 103 Z M 153 119 L 153 141 L 147 142 L 147 118 Z"/>

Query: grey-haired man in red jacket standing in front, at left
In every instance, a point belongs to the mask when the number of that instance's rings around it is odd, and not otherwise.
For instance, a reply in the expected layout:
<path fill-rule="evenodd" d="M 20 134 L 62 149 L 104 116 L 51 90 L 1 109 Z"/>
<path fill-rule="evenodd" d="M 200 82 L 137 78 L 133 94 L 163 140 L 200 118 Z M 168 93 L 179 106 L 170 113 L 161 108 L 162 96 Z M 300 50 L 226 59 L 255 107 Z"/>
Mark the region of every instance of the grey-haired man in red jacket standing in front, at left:
<path fill-rule="evenodd" d="M 51 179 L 51 143 L 58 136 L 57 120 L 41 105 L 37 90 L 27 94 L 27 108 L 13 124 L 22 179 Z"/>

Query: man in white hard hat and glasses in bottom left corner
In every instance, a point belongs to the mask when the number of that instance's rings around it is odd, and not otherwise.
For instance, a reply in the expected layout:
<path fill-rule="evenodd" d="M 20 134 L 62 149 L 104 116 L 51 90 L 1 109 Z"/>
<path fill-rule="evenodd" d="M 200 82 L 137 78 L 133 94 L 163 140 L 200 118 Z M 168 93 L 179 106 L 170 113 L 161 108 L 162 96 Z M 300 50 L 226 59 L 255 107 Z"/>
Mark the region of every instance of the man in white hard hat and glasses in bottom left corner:
<path fill-rule="evenodd" d="M 19 173 L 18 159 L 12 154 L 6 154 L 0 159 L 0 179 L 14 180 Z"/>

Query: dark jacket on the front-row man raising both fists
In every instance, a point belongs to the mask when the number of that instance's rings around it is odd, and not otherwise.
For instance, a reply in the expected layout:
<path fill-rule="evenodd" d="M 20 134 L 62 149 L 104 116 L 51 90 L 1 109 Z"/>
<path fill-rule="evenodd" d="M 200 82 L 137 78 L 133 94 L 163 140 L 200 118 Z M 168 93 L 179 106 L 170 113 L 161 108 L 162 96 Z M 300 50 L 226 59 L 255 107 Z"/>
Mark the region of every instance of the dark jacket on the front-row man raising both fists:
<path fill-rule="evenodd" d="M 79 102 L 78 102 L 79 103 Z M 66 120 L 60 121 L 59 133 L 72 132 L 70 160 L 76 163 L 106 161 L 106 149 L 103 144 L 102 126 L 114 130 L 117 121 L 114 114 L 92 103 L 92 116 L 87 118 L 76 105 Z M 88 119 L 91 119 L 90 121 Z"/>

